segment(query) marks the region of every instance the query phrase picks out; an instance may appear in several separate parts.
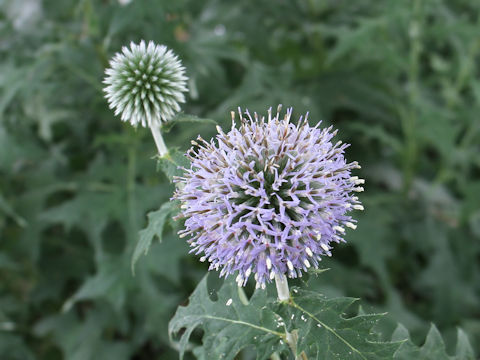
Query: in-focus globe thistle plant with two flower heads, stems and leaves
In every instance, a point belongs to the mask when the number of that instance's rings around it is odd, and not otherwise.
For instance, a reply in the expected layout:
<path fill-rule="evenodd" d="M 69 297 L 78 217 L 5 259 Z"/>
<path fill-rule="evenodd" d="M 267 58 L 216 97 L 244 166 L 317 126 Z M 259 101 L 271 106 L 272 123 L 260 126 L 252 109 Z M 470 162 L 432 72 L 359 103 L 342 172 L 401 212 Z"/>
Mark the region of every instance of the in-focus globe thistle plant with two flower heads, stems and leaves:
<path fill-rule="evenodd" d="M 148 126 L 160 155 L 167 154 L 160 129 L 180 110 L 187 90 L 180 60 L 165 46 L 141 41 L 124 47 L 110 66 L 104 81 L 110 107 L 123 121 Z M 288 278 L 318 269 L 335 244 L 345 242 L 347 229 L 357 227 L 350 213 L 363 210 L 356 193 L 365 182 L 352 174 L 360 166 L 347 162 L 349 145 L 334 141 L 332 126 L 310 125 L 308 113 L 294 120 L 292 113 L 289 108 L 282 116 L 279 106 L 266 117 L 252 116 L 239 108 L 229 131 L 217 126 L 214 139 L 199 136 L 181 160 L 160 158 L 159 167 L 176 185 L 176 201 L 149 214 L 132 265 L 174 217 L 183 221 L 178 234 L 190 252 L 226 278 L 213 301 L 205 277 L 170 321 L 181 358 L 193 348 L 202 359 L 233 360 L 252 345 L 257 359 L 419 358 L 421 350 L 404 328 L 393 341 L 379 341 L 374 325 L 381 315 L 345 318 L 353 299 L 326 299 L 301 287 L 290 291 Z M 248 299 L 243 287 L 252 278 L 257 290 Z M 266 291 L 273 281 L 275 298 Z M 197 327 L 204 334 L 195 348 L 189 341 Z M 438 338 L 435 331 L 429 336 Z M 459 344 L 468 344 L 461 336 Z"/>

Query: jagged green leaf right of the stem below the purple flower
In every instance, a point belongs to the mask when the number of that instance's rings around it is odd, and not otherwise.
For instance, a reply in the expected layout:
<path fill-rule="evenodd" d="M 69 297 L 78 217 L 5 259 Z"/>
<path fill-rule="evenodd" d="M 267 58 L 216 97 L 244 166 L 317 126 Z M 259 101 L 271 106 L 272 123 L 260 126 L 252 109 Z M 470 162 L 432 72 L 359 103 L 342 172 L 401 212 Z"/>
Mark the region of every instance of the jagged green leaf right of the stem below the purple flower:
<path fill-rule="evenodd" d="M 294 288 L 292 298 L 280 304 L 288 331 L 298 331 L 297 355 L 308 359 L 387 360 L 400 342 L 380 342 L 372 328 L 383 314 L 360 314 L 345 318 L 354 298 L 327 299 L 325 296 Z"/>

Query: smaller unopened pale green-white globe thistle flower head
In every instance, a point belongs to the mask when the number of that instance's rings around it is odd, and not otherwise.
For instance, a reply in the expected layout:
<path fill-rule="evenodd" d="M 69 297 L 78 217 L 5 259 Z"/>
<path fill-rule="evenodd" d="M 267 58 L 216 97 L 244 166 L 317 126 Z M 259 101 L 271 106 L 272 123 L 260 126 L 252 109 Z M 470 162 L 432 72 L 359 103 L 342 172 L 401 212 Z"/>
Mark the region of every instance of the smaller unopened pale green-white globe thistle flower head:
<path fill-rule="evenodd" d="M 185 68 L 164 45 L 132 42 L 113 57 L 105 74 L 110 108 L 133 126 L 161 125 L 185 102 Z"/>

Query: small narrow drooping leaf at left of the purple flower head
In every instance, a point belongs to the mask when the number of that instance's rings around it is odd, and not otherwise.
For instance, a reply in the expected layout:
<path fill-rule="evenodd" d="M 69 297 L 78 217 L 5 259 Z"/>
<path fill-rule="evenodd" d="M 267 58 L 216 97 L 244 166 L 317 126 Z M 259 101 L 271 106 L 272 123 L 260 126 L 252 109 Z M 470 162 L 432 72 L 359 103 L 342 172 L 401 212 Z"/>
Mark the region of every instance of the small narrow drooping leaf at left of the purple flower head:
<path fill-rule="evenodd" d="M 137 242 L 132 256 L 132 271 L 135 270 L 135 263 L 142 254 L 147 254 L 148 249 L 155 237 L 162 241 L 163 228 L 167 219 L 174 216 L 178 211 L 178 203 L 176 201 L 164 203 L 157 211 L 150 212 L 148 216 L 148 225 L 145 229 L 140 230 L 140 239 Z"/>

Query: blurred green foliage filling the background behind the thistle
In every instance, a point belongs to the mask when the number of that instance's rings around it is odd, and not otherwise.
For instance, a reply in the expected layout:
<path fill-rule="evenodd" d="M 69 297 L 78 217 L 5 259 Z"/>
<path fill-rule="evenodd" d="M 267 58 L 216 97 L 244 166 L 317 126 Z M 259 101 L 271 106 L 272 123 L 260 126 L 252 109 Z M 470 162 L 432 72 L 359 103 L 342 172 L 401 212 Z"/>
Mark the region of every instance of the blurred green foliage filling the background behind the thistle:
<path fill-rule="evenodd" d="M 168 321 L 205 264 L 167 221 L 132 275 L 173 186 L 102 94 L 140 39 L 183 60 L 186 113 L 227 126 L 283 103 L 339 128 L 366 211 L 309 286 L 388 311 L 387 337 L 398 321 L 422 344 L 434 322 L 453 353 L 461 327 L 478 354 L 479 28 L 471 0 L 0 1 L 0 358 L 178 357 Z M 167 145 L 198 133 L 214 126 L 179 123 Z"/>

